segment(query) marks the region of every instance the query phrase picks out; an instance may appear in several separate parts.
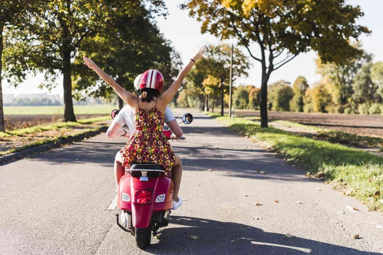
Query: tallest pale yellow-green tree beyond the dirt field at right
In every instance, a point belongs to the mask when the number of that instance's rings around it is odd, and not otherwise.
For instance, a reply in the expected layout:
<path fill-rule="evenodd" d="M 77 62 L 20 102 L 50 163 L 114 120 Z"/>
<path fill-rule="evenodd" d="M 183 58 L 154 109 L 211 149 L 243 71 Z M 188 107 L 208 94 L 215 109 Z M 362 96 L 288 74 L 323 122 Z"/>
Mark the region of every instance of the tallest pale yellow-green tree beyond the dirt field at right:
<path fill-rule="evenodd" d="M 339 108 L 348 103 L 347 99 L 353 93 L 352 84 L 358 69 L 372 58 L 371 54 L 367 54 L 361 49 L 361 43 L 351 45 L 361 51 L 352 58 L 346 59 L 344 63 L 323 63 L 320 58 L 316 59 L 317 73 L 327 79 L 327 84 L 331 87 L 328 89 L 332 95 L 332 101 Z"/>

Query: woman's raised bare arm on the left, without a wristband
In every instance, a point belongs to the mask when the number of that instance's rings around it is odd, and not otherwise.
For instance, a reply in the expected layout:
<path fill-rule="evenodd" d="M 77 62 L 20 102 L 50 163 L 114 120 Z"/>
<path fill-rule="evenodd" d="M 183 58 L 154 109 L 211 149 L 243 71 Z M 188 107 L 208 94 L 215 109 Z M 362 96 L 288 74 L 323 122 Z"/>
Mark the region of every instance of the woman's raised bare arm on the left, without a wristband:
<path fill-rule="evenodd" d="M 137 105 L 137 96 L 126 91 L 123 87 L 119 86 L 113 78 L 111 78 L 106 72 L 104 72 L 98 65 L 96 65 L 91 59 L 83 57 L 84 64 L 90 69 L 94 70 L 101 79 L 103 79 L 107 84 L 109 84 L 114 91 L 117 93 L 121 99 L 125 101 L 129 106 L 136 107 Z"/>

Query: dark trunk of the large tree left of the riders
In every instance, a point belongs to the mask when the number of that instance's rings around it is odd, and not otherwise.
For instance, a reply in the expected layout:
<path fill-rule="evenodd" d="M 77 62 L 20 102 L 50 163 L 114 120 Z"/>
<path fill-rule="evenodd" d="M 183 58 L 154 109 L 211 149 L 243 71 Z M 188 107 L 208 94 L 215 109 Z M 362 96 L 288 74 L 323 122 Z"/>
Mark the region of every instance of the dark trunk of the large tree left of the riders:
<path fill-rule="evenodd" d="M 77 121 L 75 112 L 73 111 L 72 100 L 72 79 L 71 79 L 71 66 L 70 66 L 70 50 L 65 49 L 63 53 L 63 87 L 64 87 L 64 121 Z"/>

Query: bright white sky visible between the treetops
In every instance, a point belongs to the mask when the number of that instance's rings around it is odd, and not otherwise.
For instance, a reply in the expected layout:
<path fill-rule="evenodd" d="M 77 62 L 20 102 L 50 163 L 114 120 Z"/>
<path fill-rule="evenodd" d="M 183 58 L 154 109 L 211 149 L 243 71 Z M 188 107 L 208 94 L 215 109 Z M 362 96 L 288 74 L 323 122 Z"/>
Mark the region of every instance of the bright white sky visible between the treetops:
<path fill-rule="evenodd" d="M 219 38 L 210 34 L 201 34 L 201 23 L 196 18 L 189 17 L 187 10 L 181 10 L 179 5 L 185 0 L 165 0 L 169 15 L 166 18 L 157 17 L 157 25 L 164 34 L 166 39 L 172 41 L 175 49 L 180 53 L 183 63 L 193 57 L 194 53 L 204 44 L 218 45 L 222 43 Z M 369 36 L 361 36 L 363 48 L 372 53 L 373 61 L 383 61 L 383 27 L 378 22 L 381 10 L 383 9 L 383 1 L 381 0 L 348 0 L 351 5 L 360 5 L 365 16 L 358 20 L 358 24 L 366 25 L 371 31 Z M 233 43 L 236 45 L 236 40 L 232 39 L 225 43 Z M 244 48 L 243 52 L 249 56 Z M 251 47 L 254 53 L 257 53 L 257 45 Z M 259 55 L 258 55 L 259 56 Z M 313 84 L 321 79 L 319 74 L 316 74 L 315 58 L 317 55 L 314 52 L 301 54 L 294 60 L 274 71 L 271 74 L 269 84 L 278 80 L 286 80 L 294 82 L 299 76 L 303 75 L 309 84 Z M 249 58 L 251 59 L 251 58 Z M 241 84 L 254 85 L 260 87 L 260 64 L 257 61 L 251 60 L 252 66 L 249 70 L 249 76 L 237 79 L 234 86 Z M 43 75 L 38 74 L 36 77 L 29 77 L 26 82 L 21 84 L 16 89 L 9 87 L 3 81 L 4 94 L 29 94 L 29 93 L 48 93 L 46 89 L 39 89 L 38 85 L 43 81 Z M 63 94 L 62 80 L 58 81 L 58 86 L 51 93 Z"/>

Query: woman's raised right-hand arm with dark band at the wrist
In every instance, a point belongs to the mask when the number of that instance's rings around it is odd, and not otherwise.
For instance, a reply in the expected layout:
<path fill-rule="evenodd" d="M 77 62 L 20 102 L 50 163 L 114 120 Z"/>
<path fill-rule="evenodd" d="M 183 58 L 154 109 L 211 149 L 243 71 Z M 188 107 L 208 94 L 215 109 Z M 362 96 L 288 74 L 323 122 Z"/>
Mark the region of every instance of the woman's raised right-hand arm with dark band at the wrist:
<path fill-rule="evenodd" d="M 174 80 L 174 82 L 172 83 L 172 85 L 166 89 L 165 92 L 162 93 L 161 95 L 161 101 L 163 101 L 163 104 L 164 105 L 168 105 L 170 103 L 170 101 L 172 100 L 172 98 L 174 97 L 174 95 L 177 93 L 178 89 L 180 88 L 181 86 L 181 83 L 183 81 L 183 79 L 185 79 L 186 75 L 190 72 L 190 70 L 192 70 L 193 66 L 194 66 L 194 63 L 195 61 L 199 60 L 200 58 L 202 58 L 202 55 L 206 52 L 206 46 L 202 46 L 198 52 L 193 56 L 193 60 L 190 60 L 187 65 L 181 70 L 181 72 L 178 74 L 176 80 Z"/>

